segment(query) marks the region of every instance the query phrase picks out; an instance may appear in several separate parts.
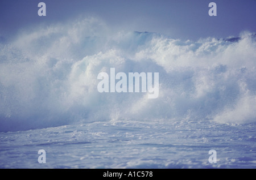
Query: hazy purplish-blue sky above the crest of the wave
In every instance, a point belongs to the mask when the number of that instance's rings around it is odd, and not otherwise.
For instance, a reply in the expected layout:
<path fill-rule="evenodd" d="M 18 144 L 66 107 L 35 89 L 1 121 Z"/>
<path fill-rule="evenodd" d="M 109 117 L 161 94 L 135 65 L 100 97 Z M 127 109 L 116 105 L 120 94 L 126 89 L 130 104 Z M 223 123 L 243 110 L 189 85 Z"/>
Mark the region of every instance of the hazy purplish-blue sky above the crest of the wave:
<path fill-rule="evenodd" d="M 38 3 L 46 3 L 47 16 L 38 16 Z M 208 15 L 208 4 L 217 4 L 217 16 Z M 239 36 L 256 31 L 255 0 L 1 0 L 0 33 L 65 23 L 80 16 L 95 16 L 113 28 L 148 31 L 174 38 Z"/>

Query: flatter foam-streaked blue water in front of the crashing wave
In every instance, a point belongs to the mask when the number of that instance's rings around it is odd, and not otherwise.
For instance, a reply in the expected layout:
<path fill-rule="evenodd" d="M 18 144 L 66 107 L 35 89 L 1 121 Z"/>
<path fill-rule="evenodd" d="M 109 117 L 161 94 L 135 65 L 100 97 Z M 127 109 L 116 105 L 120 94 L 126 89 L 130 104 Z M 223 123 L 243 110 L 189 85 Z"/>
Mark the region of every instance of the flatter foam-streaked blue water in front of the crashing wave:
<path fill-rule="evenodd" d="M 1 168 L 256 168 L 255 124 L 107 121 L 1 132 Z M 46 151 L 39 164 L 38 151 Z M 209 162 L 209 150 L 217 152 Z"/>

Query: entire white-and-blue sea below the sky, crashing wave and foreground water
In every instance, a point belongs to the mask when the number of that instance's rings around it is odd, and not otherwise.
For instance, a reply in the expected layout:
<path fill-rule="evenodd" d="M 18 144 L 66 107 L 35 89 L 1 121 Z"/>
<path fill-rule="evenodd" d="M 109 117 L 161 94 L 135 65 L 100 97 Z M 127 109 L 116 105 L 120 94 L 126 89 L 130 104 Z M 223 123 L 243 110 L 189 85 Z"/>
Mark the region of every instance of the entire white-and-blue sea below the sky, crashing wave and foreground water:
<path fill-rule="evenodd" d="M 180 40 L 96 18 L 0 35 L 0 168 L 256 168 L 255 39 Z M 98 92 L 110 68 L 158 72 L 158 98 Z"/>

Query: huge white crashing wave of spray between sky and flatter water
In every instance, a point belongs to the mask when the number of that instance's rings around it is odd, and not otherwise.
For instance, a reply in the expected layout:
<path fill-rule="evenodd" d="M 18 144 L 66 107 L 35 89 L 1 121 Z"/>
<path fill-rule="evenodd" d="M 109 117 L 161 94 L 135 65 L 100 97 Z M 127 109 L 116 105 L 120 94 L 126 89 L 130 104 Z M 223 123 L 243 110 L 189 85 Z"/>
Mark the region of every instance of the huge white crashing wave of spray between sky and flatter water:
<path fill-rule="evenodd" d="M 132 119 L 256 121 L 255 34 L 198 41 L 87 18 L 0 39 L 0 131 Z M 97 75 L 159 72 L 159 97 L 99 93 Z"/>

